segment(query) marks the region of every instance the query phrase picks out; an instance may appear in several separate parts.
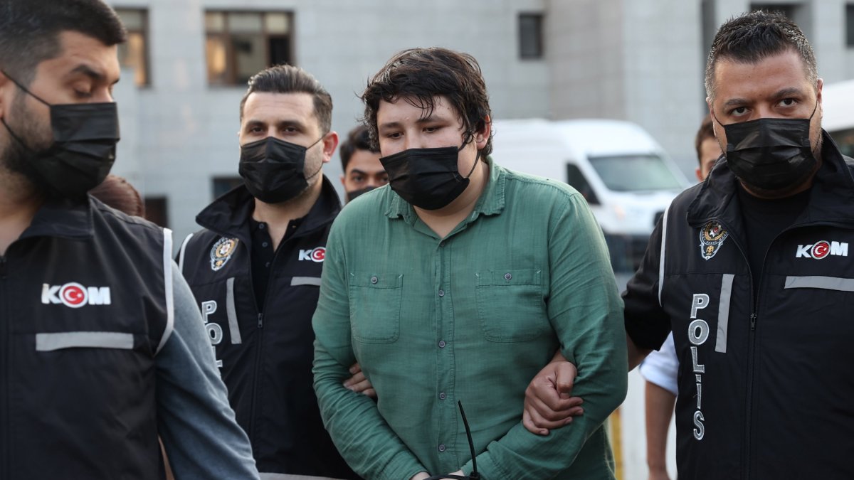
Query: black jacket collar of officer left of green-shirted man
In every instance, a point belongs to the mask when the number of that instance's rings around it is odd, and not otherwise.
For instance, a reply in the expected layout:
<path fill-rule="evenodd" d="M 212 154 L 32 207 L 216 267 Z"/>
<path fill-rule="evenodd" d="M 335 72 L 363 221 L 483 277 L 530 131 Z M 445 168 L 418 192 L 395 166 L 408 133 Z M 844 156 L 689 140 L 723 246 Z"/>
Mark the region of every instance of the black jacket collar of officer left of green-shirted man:
<path fill-rule="evenodd" d="M 321 181 L 320 196 L 314 202 L 311 210 L 308 211 L 306 220 L 296 231 L 295 235 L 297 236 L 329 225 L 341 211 L 341 201 L 338 199 L 335 187 L 325 175 Z M 254 207 L 254 196 L 242 184 L 205 207 L 202 212 L 196 215 L 196 223 L 210 231 L 225 236 L 239 237 L 245 241 L 246 238 L 244 237 L 248 232 L 247 225 L 249 225 L 249 218 L 252 216 Z"/>

